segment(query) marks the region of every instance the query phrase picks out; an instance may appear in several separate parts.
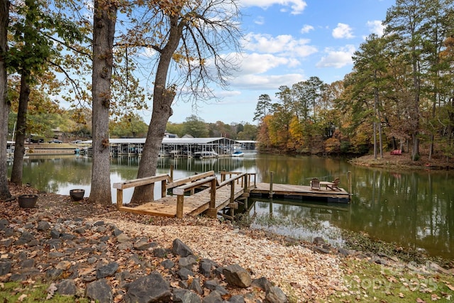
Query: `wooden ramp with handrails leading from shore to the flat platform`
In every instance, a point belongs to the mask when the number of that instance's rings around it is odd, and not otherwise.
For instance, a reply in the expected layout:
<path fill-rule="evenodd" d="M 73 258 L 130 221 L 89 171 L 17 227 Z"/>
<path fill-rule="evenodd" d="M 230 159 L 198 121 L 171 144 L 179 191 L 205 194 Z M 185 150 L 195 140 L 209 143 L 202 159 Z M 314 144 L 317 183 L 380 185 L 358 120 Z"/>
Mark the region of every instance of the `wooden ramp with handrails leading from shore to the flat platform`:
<path fill-rule="evenodd" d="M 226 175 L 230 174 L 226 180 Z M 252 174 L 255 176 L 255 174 Z M 204 172 L 199 175 L 172 181 L 169 175 L 158 175 L 137 180 L 115 183 L 117 189 L 118 211 L 128 211 L 135 214 L 153 216 L 196 216 L 206 212 L 208 216 L 216 217 L 220 211 L 228 208 L 233 218 L 233 209 L 238 208 L 238 200 L 248 197 L 250 189 L 255 187 L 255 180 L 250 184 L 251 174 L 228 172 L 221 174 L 221 183 L 214 172 Z M 123 189 L 161 182 L 161 198 L 138 206 L 123 206 Z M 167 190 L 172 189 L 172 195 Z M 189 195 L 187 195 L 189 194 Z"/>

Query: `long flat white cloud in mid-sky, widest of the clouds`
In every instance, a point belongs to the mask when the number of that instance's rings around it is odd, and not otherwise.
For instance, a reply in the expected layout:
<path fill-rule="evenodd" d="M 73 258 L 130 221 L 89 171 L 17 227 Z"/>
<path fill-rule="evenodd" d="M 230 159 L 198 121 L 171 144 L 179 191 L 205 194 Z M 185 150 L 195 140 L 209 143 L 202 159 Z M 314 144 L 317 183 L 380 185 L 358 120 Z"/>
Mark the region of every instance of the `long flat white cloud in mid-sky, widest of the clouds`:
<path fill-rule="evenodd" d="M 279 53 L 289 57 L 306 57 L 317 52 L 317 48 L 308 45 L 309 39 L 294 39 L 292 35 L 266 35 L 249 33 L 245 35 L 245 50 L 258 53 Z"/>

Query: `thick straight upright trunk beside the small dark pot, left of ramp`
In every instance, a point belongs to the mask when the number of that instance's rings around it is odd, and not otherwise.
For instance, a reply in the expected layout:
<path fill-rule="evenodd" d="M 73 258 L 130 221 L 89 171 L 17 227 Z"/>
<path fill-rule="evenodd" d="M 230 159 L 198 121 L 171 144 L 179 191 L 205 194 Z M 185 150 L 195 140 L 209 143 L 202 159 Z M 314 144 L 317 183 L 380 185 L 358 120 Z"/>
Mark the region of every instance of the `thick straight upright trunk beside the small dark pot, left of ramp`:
<path fill-rule="evenodd" d="M 94 1 L 93 21 L 93 166 L 90 201 L 111 204 L 109 108 L 114 62 L 114 34 L 117 7 L 112 1 Z"/>

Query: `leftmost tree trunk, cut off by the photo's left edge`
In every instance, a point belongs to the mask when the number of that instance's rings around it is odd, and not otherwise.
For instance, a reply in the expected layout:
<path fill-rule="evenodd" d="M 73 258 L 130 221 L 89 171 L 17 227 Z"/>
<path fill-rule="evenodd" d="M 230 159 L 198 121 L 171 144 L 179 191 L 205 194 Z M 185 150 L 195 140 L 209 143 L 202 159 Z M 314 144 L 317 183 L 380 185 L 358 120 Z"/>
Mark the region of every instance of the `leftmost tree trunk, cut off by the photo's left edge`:
<path fill-rule="evenodd" d="M 0 200 L 11 198 L 8 188 L 8 164 L 6 162 L 6 141 L 8 141 L 9 103 L 6 89 L 6 28 L 9 21 L 9 1 L 0 0 Z"/>

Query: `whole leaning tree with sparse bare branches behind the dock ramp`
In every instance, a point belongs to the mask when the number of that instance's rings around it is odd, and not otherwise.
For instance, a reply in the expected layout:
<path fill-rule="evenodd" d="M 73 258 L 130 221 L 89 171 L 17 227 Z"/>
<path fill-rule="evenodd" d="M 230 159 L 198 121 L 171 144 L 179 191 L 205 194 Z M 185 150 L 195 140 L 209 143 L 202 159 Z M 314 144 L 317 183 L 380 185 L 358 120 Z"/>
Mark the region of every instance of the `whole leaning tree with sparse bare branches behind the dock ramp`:
<path fill-rule="evenodd" d="M 240 13 L 234 0 L 153 0 L 148 1 L 146 11 L 148 15 L 140 18 L 134 28 L 134 32 L 144 34 L 131 44 L 143 45 L 143 41 L 149 41 L 145 46 L 153 48 L 157 67 L 153 82 L 153 114 L 138 178 L 155 175 L 157 155 L 178 90 L 189 91 L 194 101 L 213 97 L 208 82 L 214 81 L 223 87 L 226 76 L 236 69 L 235 58 L 221 52 L 227 48 L 238 51 L 240 36 Z M 177 65 L 181 77 L 167 83 L 172 62 Z M 153 186 L 135 187 L 132 201 L 153 201 L 152 189 Z"/>

